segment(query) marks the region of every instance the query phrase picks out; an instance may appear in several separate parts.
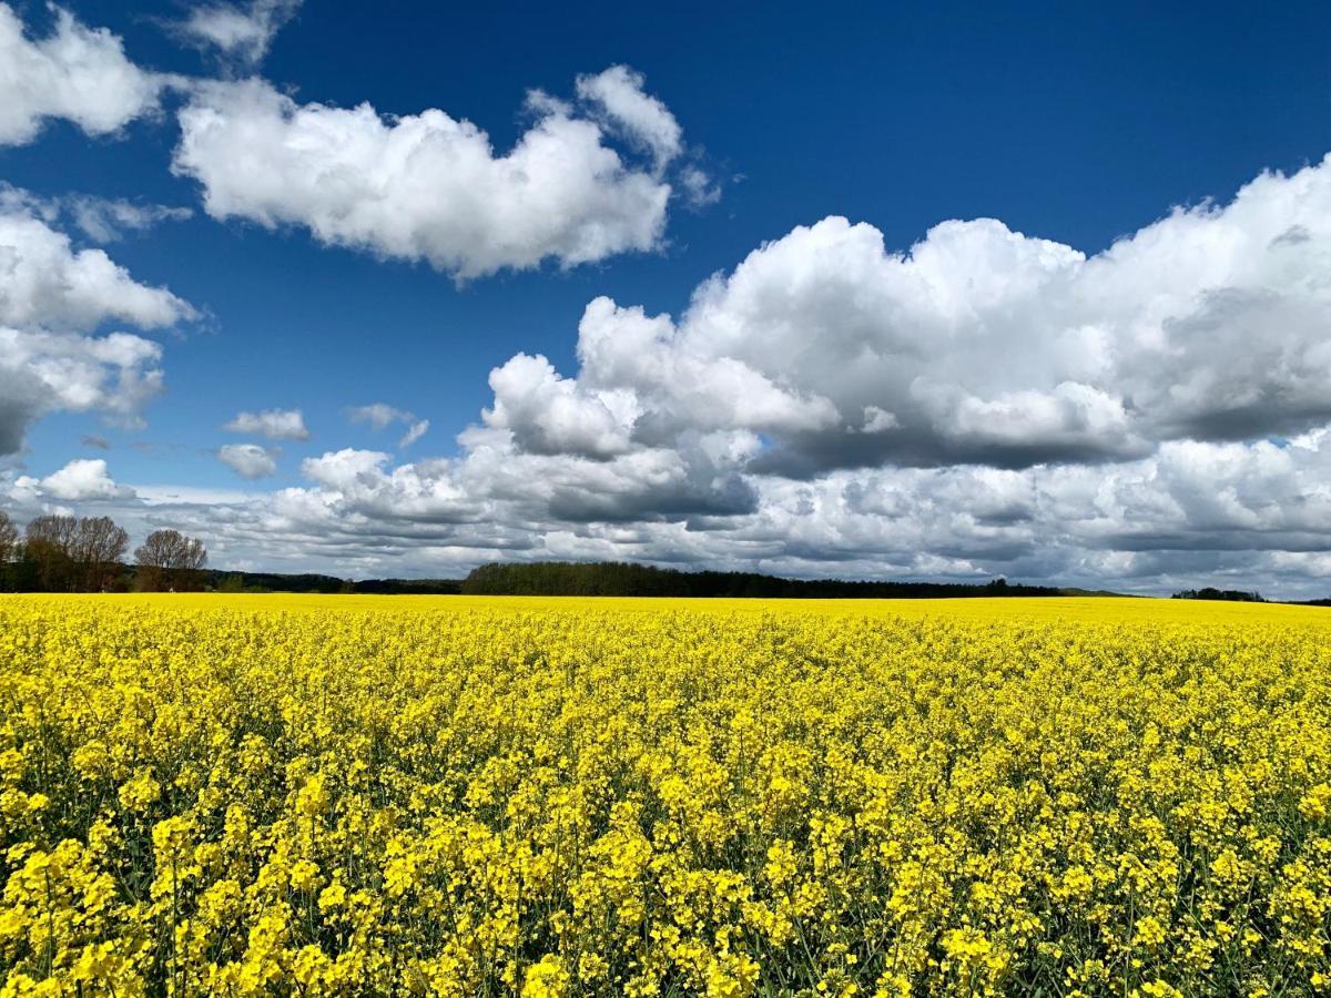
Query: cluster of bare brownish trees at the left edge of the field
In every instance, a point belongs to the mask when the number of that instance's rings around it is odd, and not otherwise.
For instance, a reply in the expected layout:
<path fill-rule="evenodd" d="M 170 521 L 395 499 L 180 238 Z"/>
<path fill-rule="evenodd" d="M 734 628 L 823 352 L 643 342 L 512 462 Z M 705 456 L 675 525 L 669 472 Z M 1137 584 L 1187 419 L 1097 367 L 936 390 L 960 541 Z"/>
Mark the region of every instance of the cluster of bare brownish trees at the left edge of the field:
<path fill-rule="evenodd" d="M 208 550 L 177 530 L 154 530 L 125 564 L 129 534 L 109 516 L 37 516 L 20 534 L 0 510 L 0 589 L 124 592 L 200 588 Z"/>

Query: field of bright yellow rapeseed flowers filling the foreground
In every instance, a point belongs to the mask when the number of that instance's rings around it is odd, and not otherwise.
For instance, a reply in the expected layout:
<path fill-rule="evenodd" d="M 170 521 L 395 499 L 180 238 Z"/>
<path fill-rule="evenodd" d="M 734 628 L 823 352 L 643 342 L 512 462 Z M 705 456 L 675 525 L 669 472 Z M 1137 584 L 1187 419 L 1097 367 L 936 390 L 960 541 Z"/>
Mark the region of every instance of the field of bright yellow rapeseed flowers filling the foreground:
<path fill-rule="evenodd" d="M 1331 611 L 0 597 L 0 995 L 1295 995 Z"/>

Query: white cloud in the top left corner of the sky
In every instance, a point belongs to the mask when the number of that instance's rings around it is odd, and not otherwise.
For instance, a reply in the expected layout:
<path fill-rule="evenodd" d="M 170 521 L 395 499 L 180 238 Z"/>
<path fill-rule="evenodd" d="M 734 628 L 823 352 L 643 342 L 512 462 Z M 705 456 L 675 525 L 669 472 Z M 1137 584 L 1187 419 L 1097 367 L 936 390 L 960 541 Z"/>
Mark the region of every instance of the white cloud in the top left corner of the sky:
<path fill-rule="evenodd" d="M 157 108 L 162 77 L 130 63 L 105 28 L 55 11 L 52 35 L 33 40 L 13 8 L 0 3 L 0 145 L 31 142 L 47 118 L 105 136 Z"/>

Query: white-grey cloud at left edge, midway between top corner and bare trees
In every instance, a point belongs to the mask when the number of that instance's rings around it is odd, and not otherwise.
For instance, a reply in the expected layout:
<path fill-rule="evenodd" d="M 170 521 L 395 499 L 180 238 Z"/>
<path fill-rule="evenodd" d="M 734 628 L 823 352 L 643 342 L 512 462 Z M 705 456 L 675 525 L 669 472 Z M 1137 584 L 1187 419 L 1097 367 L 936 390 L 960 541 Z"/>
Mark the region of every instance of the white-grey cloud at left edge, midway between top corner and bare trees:
<path fill-rule="evenodd" d="M 21 192 L 0 192 L 0 454 L 45 413 L 101 411 L 136 426 L 161 391 L 161 347 L 108 322 L 157 329 L 194 318 L 164 287 L 134 281 L 100 249 L 75 250 Z"/>

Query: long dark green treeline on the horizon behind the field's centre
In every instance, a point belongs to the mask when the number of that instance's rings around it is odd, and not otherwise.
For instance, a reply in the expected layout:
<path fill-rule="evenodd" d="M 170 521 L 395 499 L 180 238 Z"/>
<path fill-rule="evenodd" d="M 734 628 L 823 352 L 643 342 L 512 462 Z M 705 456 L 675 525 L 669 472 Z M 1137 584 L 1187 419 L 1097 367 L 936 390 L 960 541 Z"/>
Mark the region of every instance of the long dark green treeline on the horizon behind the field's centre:
<path fill-rule="evenodd" d="M 731 596 L 759 599 L 942 599 L 1065 596 L 1067 589 L 985 584 L 781 579 L 757 572 L 681 572 L 627 562 L 487 564 L 462 580 L 469 596 Z"/>

